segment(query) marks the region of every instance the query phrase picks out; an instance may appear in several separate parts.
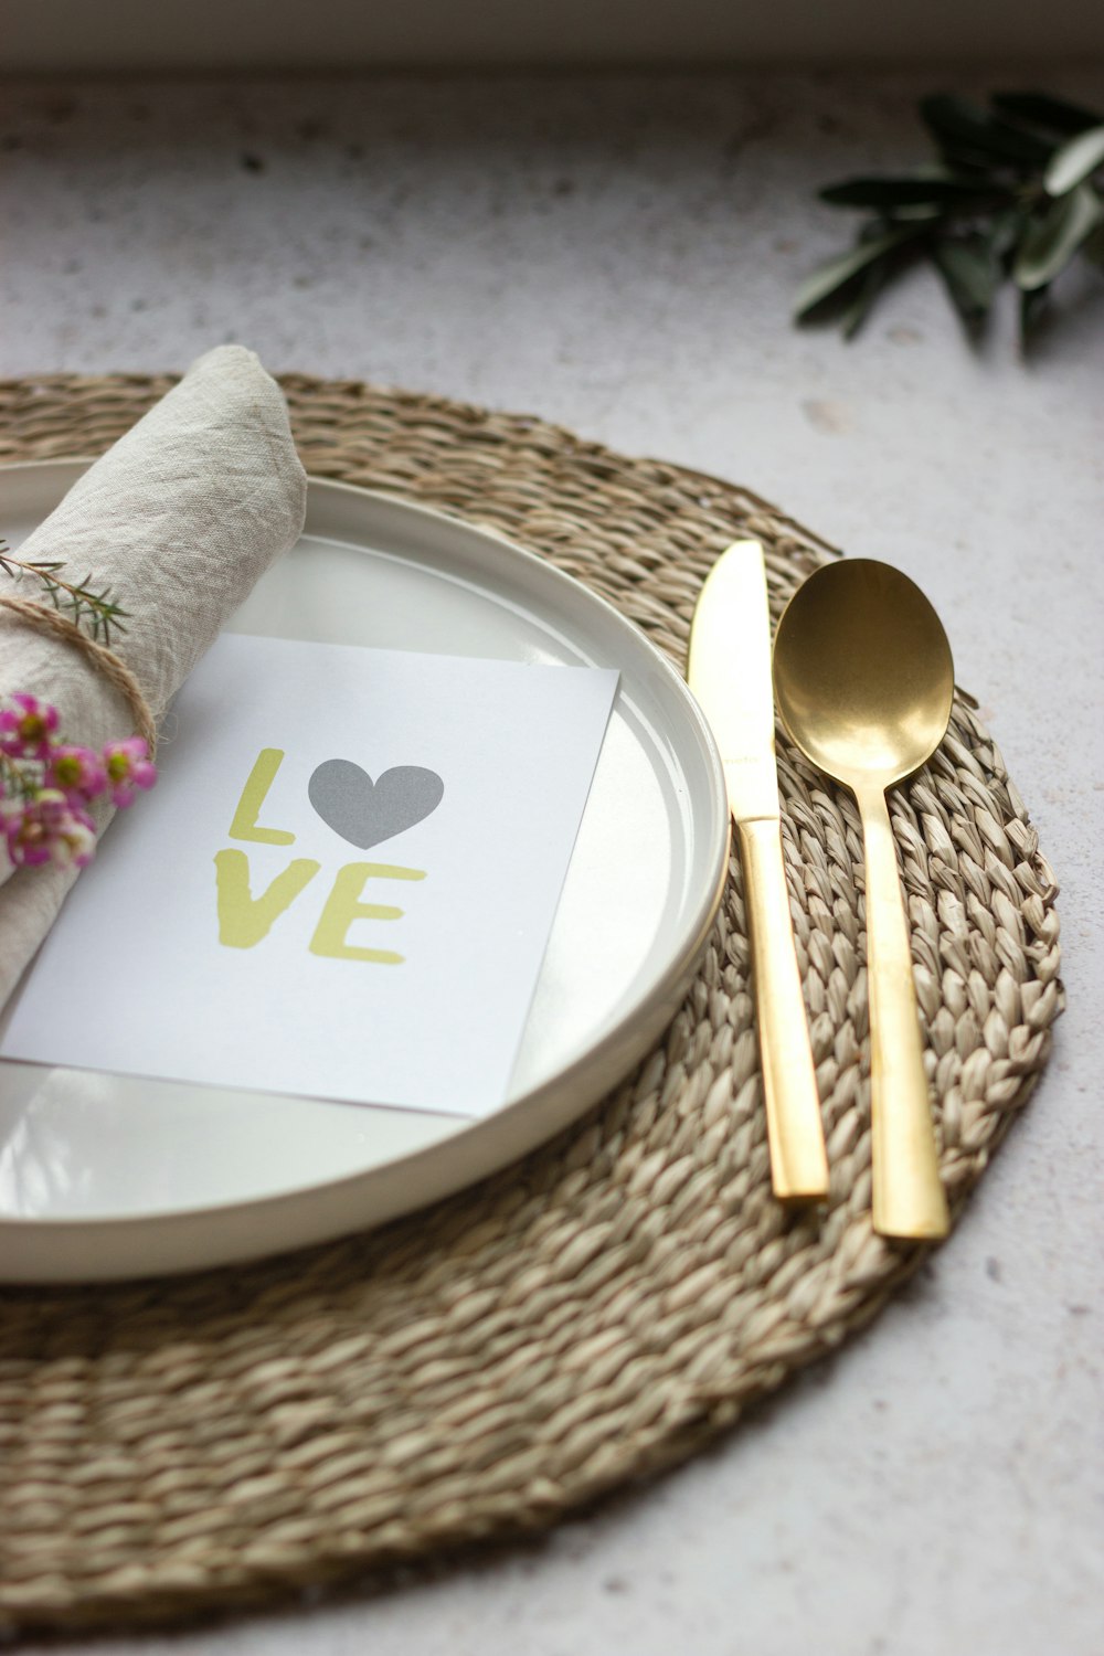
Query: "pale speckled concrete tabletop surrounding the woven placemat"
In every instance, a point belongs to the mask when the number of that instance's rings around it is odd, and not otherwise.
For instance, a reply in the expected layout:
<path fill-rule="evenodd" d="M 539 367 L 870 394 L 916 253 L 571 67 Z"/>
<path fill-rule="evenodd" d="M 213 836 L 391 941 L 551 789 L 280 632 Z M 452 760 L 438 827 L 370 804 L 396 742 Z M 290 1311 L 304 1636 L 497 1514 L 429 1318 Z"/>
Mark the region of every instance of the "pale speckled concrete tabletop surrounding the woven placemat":
<path fill-rule="evenodd" d="M 934 280 L 798 333 L 953 75 L 8 88 L 0 371 L 273 369 L 533 409 L 748 482 L 943 614 L 1063 884 L 1069 1010 L 952 1242 L 713 1452 L 382 1596 L 116 1653 L 1097 1656 L 1104 282 L 1023 361 Z M 983 78 L 1104 103 L 1104 73 Z M 68 1644 L 50 1646 L 53 1651 Z M 76 1646 L 73 1646 L 76 1648 Z"/>

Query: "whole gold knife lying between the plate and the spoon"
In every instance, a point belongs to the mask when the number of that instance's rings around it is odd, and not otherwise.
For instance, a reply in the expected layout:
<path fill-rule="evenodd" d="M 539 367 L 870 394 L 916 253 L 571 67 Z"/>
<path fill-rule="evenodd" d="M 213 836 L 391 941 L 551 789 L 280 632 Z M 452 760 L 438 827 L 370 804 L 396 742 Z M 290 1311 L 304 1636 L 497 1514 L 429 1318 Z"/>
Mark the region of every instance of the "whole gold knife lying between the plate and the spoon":
<path fill-rule="evenodd" d="M 720 747 L 740 840 L 771 1182 L 781 1202 L 808 1202 L 828 1196 L 828 1156 L 781 853 L 770 649 L 763 548 L 738 540 L 702 588 L 687 679 Z"/>

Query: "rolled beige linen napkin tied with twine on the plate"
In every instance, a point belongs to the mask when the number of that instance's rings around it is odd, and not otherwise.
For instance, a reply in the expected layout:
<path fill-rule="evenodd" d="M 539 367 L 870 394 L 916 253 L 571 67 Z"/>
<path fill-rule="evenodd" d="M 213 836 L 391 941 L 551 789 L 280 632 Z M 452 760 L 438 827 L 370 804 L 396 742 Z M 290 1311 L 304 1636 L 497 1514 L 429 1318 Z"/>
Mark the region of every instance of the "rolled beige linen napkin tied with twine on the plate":
<path fill-rule="evenodd" d="M 63 560 L 70 580 L 91 573 L 111 590 L 127 611 L 111 647 L 159 717 L 258 576 L 295 545 L 305 510 L 283 394 L 252 351 L 223 344 L 96 460 L 18 556 Z M 0 591 L 33 598 L 35 583 Z M 68 742 L 99 749 L 134 729 L 96 666 L 0 608 L 0 692 L 15 691 L 51 702 Z M 96 802 L 93 815 L 103 828 L 111 806 Z M 12 869 L 0 851 L 0 1007 L 76 874 Z"/>

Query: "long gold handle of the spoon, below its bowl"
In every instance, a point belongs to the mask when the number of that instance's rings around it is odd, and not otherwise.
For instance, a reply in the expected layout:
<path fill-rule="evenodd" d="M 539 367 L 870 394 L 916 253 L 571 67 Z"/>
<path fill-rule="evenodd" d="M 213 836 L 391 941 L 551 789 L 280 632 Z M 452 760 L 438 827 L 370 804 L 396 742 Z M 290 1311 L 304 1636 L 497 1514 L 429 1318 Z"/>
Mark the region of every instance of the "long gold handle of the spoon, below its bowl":
<path fill-rule="evenodd" d="M 912 951 L 886 795 L 856 790 L 866 856 L 866 954 L 871 1002 L 874 1229 L 886 1237 L 945 1237 Z"/>

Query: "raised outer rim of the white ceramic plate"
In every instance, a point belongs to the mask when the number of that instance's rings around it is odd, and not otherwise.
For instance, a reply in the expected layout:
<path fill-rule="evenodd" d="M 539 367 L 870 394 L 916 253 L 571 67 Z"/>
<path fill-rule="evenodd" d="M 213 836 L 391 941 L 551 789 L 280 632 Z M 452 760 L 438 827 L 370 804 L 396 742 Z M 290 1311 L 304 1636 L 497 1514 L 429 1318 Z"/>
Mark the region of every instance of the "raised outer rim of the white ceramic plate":
<path fill-rule="evenodd" d="M 51 455 L 36 460 L 5 460 L 0 462 L 0 479 L 8 477 L 13 472 L 30 474 L 30 472 L 58 472 L 65 469 L 88 469 L 94 455 Z M 310 1202 L 311 1199 L 326 1194 L 338 1199 L 344 1194 L 354 1194 L 358 1186 L 364 1186 L 369 1181 L 386 1179 L 389 1174 L 396 1174 L 404 1169 L 414 1176 L 422 1172 L 419 1164 L 432 1163 L 440 1158 L 442 1149 L 447 1149 L 462 1158 L 463 1161 L 472 1159 L 472 1149 L 478 1153 L 483 1138 L 490 1138 L 498 1133 L 503 1139 L 502 1154 L 493 1154 L 490 1159 L 482 1163 L 480 1171 L 472 1176 L 460 1176 L 458 1179 L 447 1177 L 444 1181 L 427 1179 L 427 1194 L 419 1197 L 415 1202 L 401 1202 L 394 1212 L 384 1212 L 381 1216 L 371 1217 L 366 1224 L 366 1230 L 376 1230 L 389 1220 L 401 1217 L 402 1214 L 419 1212 L 422 1207 L 440 1201 L 447 1194 L 457 1194 L 473 1182 L 483 1177 L 490 1177 L 502 1171 L 511 1161 L 520 1156 L 538 1149 L 541 1144 L 548 1143 L 558 1133 L 571 1126 L 586 1114 L 588 1110 L 596 1108 L 604 1093 L 614 1081 L 606 1081 L 601 1090 L 594 1091 L 586 1088 L 588 1103 L 583 1106 L 573 1106 L 563 1119 L 541 1128 L 540 1133 L 521 1133 L 518 1134 L 516 1126 L 520 1119 L 531 1116 L 536 1111 L 548 1108 L 548 1098 L 553 1093 L 563 1093 L 571 1086 L 574 1078 L 586 1078 L 593 1071 L 602 1071 L 616 1068 L 617 1076 L 624 1078 L 627 1070 L 634 1061 L 639 1061 L 642 1052 L 637 1048 L 627 1061 L 624 1061 L 626 1050 L 637 1047 L 631 1037 L 631 1027 L 646 1025 L 652 1028 L 655 1018 L 664 1013 L 664 1022 L 667 1022 L 667 1013 L 674 1015 L 677 1004 L 685 994 L 685 987 L 692 977 L 694 967 L 700 959 L 700 954 L 708 939 L 717 909 L 722 901 L 722 894 L 728 874 L 728 854 L 730 854 L 730 818 L 728 803 L 725 793 L 725 778 L 722 757 L 713 740 L 712 730 L 698 704 L 695 702 L 690 689 L 675 669 L 675 666 L 664 656 L 664 652 L 647 638 L 642 628 L 624 616 L 616 604 L 612 604 L 601 593 L 593 591 L 584 581 L 576 580 L 564 570 L 556 568 L 540 553 L 520 545 L 510 535 L 503 533 L 493 525 L 473 523 L 468 518 L 457 517 L 455 513 L 445 512 L 439 507 L 427 505 L 420 500 L 410 500 L 406 495 L 394 493 L 382 489 L 366 489 L 359 484 L 346 484 L 339 479 L 318 477 L 308 472 L 308 485 L 311 490 L 323 490 L 323 493 L 336 493 L 349 497 L 353 500 L 367 500 L 387 508 L 397 510 L 401 515 L 414 515 L 430 520 L 432 523 L 445 525 L 449 530 L 463 530 L 478 540 L 490 540 L 503 551 L 513 558 L 520 558 L 525 565 L 531 566 L 538 573 L 538 580 L 551 581 L 551 585 L 561 585 L 564 590 L 579 590 L 588 604 L 598 606 L 599 613 L 604 613 L 606 621 L 614 628 L 614 631 L 631 631 L 634 643 L 642 646 L 652 657 L 652 664 L 659 667 L 669 691 L 674 694 L 675 700 L 680 704 L 682 712 L 689 717 L 690 725 L 695 730 L 702 753 L 707 760 L 707 772 L 710 782 L 710 792 L 713 795 L 713 803 L 717 810 L 712 813 L 713 833 L 712 841 L 707 846 L 707 861 L 713 871 L 710 881 L 708 894 L 698 898 L 694 904 L 690 916 L 684 922 L 679 937 L 679 947 L 674 954 L 669 954 L 664 969 L 657 974 L 657 979 L 647 989 L 644 997 L 634 1004 L 621 1018 L 617 1018 L 607 1030 L 602 1032 L 594 1042 L 588 1043 L 584 1052 L 581 1052 L 571 1063 L 558 1068 L 551 1076 L 536 1086 L 528 1088 L 516 1098 L 510 1098 L 500 1110 L 495 1110 L 488 1116 L 477 1119 L 457 1119 L 454 1131 L 442 1133 L 440 1138 L 429 1144 L 419 1146 L 412 1151 L 401 1151 L 396 1156 L 389 1156 L 384 1161 L 374 1163 L 371 1167 L 356 1169 L 348 1174 L 339 1174 L 338 1177 L 316 1179 L 310 1184 L 295 1186 L 291 1189 L 270 1191 L 252 1197 L 233 1197 L 230 1201 L 215 1201 L 207 1204 L 192 1204 L 180 1207 L 166 1209 L 147 1209 L 136 1214 L 61 1214 L 56 1217 L 23 1217 L 23 1216 L 0 1216 L 0 1244 L 5 1240 L 18 1239 L 23 1245 L 35 1240 L 46 1242 L 46 1252 L 50 1252 L 50 1244 L 63 1242 L 63 1239 L 71 1237 L 78 1230 L 89 1230 L 96 1234 L 96 1239 L 111 1237 L 124 1242 L 131 1234 L 141 1229 L 156 1229 L 159 1232 L 179 1229 L 184 1225 L 194 1225 L 204 1219 L 230 1222 L 233 1229 L 235 1219 L 248 1220 L 252 1216 L 271 1214 L 281 1207 L 293 1207 L 301 1202 Z M 108 1071 L 109 1073 L 109 1071 Z M 296 1095 L 305 1100 L 308 1095 Z M 467 1153 L 467 1154 L 465 1154 Z M 442 1187 L 432 1189 L 434 1184 Z M 358 1229 L 356 1220 L 353 1224 L 344 1224 L 341 1229 L 321 1227 L 314 1235 L 314 1242 L 326 1239 L 338 1239 L 339 1235 L 349 1234 Z M 308 1240 L 293 1240 L 291 1249 L 300 1249 L 311 1245 Z M 232 1265 L 235 1262 L 248 1259 L 271 1259 L 278 1257 L 288 1249 L 273 1247 L 271 1244 L 263 1244 L 257 1249 L 243 1247 L 235 1252 L 218 1255 L 217 1264 Z M 210 1268 L 215 1264 L 207 1262 L 189 1262 L 182 1260 L 175 1265 L 151 1265 L 147 1270 L 139 1270 L 137 1275 L 161 1275 L 161 1273 L 180 1273 L 189 1270 Z M 0 1282 L 91 1282 L 91 1280 L 119 1280 L 122 1277 L 134 1277 L 134 1268 L 126 1272 L 108 1268 L 96 1272 L 81 1272 L 60 1275 L 56 1270 L 50 1270 L 48 1264 L 43 1268 L 36 1268 L 33 1257 L 23 1264 L 18 1273 L 10 1275 L 8 1267 L 0 1265 Z"/>

